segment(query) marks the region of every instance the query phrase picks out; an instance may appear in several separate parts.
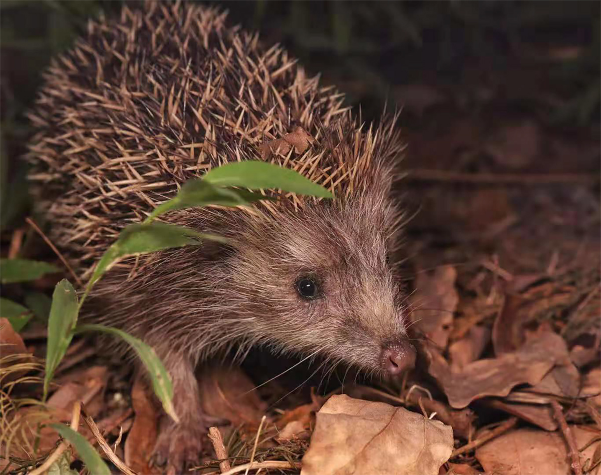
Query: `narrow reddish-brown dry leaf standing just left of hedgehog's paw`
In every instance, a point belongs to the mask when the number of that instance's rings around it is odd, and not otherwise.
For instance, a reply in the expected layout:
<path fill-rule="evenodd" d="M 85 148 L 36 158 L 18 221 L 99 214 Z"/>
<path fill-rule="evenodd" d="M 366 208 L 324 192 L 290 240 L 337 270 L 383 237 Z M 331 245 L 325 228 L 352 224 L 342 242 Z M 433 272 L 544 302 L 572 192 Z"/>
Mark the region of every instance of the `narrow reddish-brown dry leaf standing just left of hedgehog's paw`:
<path fill-rule="evenodd" d="M 125 464 L 137 473 L 160 473 L 148 465 L 156 444 L 160 415 L 142 378 L 138 378 L 133 384 L 132 406 L 135 417 L 125 441 Z"/>

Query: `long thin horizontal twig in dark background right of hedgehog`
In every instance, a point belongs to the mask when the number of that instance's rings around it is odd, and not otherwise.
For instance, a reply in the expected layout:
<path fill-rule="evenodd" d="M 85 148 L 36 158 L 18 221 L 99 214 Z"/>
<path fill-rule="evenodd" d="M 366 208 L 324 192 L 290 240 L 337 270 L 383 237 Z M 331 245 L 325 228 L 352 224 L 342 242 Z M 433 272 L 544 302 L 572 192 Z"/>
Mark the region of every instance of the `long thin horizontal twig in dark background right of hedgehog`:
<path fill-rule="evenodd" d="M 407 173 L 404 180 L 448 181 L 453 183 L 597 183 L 599 176 L 584 173 L 563 174 L 513 174 L 513 173 L 463 173 L 448 170 L 415 169 Z"/>

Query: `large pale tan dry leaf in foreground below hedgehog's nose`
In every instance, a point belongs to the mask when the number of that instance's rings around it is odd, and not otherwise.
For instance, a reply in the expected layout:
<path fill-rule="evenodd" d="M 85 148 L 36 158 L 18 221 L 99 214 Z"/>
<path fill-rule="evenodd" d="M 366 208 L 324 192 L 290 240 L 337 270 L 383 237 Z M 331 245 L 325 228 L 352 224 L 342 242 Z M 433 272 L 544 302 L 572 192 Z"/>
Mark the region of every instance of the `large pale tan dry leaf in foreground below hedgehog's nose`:
<path fill-rule="evenodd" d="M 438 474 L 452 450 L 453 430 L 440 421 L 337 395 L 317 413 L 301 474 Z"/>

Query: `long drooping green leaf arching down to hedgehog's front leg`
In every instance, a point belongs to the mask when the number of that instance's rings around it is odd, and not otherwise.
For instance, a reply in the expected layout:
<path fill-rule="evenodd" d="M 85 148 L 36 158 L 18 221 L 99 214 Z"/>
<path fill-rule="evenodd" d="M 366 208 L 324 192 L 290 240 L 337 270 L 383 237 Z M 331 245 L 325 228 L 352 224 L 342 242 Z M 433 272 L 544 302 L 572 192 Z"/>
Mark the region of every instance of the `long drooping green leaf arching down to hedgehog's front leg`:
<path fill-rule="evenodd" d="M 178 422 L 177 414 L 173 407 L 173 387 L 171 386 L 171 378 L 169 373 L 163 366 L 163 363 L 154 352 L 151 346 L 148 346 L 142 340 L 125 333 L 124 331 L 118 330 L 117 328 L 105 327 L 104 325 L 87 324 L 79 325 L 75 330 L 77 333 L 82 331 L 103 331 L 104 333 L 113 334 L 125 340 L 135 350 L 139 358 L 144 363 L 144 367 L 147 369 L 152 381 L 154 393 L 160 402 L 163 404 L 165 412 L 171 416 L 171 418 Z"/>

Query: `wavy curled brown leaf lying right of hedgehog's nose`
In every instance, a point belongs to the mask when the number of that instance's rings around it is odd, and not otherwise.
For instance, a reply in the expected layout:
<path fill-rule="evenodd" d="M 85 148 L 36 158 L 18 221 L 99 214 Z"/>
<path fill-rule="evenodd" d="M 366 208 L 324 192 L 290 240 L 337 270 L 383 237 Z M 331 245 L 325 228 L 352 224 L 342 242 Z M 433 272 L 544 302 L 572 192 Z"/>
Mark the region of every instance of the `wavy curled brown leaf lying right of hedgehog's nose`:
<path fill-rule="evenodd" d="M 540 334 L 518 351 L 469 363 L 462 371 L 451 371 L 447 361 L 431 346 L 423 348 L 430 375 L 438 381 L 454 408 L 466 407 L 484 396 L 507 396 L 517 384 L 534 386 L 557 363 L 568 358 L 563 338 L 551 331 Z"/>

